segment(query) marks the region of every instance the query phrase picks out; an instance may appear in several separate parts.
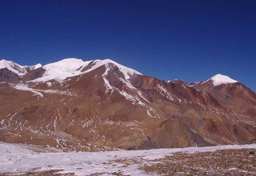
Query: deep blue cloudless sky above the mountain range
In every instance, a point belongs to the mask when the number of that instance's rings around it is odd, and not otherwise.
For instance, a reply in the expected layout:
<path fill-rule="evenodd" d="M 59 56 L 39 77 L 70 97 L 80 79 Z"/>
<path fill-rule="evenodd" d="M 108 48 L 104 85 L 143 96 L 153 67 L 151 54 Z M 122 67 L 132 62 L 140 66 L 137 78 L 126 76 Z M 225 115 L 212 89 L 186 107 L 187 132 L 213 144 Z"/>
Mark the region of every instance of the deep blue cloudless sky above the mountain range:
<path fill-rule="evenodd" d="M 0 1 L 0 58 L 70 57 L 112 58 L 163 80 L 226 74 L 256 90 L 256 1 Z"/>

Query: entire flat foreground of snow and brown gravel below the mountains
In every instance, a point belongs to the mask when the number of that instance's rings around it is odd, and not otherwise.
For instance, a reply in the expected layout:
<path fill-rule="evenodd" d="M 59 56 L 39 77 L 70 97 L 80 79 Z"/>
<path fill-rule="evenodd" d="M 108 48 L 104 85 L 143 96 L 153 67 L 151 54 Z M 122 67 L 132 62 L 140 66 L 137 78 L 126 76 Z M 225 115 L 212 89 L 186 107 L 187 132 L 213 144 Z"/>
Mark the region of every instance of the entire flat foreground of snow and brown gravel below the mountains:
<path fill-rule="evenodd" d="M 0 143 L 0 175 L 256 175 L 256 144 L 62 152 Z"/>

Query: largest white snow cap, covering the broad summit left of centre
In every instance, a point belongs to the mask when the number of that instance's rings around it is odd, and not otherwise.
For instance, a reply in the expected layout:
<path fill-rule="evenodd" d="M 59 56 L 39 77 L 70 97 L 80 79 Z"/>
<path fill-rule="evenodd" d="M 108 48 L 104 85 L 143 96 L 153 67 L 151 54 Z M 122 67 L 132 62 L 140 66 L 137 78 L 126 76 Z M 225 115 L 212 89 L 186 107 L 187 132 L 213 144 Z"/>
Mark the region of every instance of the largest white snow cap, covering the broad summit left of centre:
<path fill-rule="evenodd" d="M 82 71 L 83 68 L 89 65 L 90 62 L 94 62 L 94 65 L 91 66 L 88 70 Z M 42 75 L 42 78 L 37 78 L 35 82 L 46 82 L 52 79 L 56 80 L 64 80 L 69 77 L 74 77 L 80 74 L 86 74 L 91 70 L 98 68 L 99 66 L 106 66 L 106 69 L 111 69 L 109 63 L 117 66 L 119 71 L 124 74 L 126 79 L 130 78 L 130 75 L 140 74 L 136 70 L 132 70 L 126 66 L 122 66 L 117 62 L 112 61 L 111 59 L 96 59 L 90 61 L 82 61 L 82 59 L 78 58 L 65 58 L 61 61 L 47 64 L 46 66 L 42 66 L 46 72 Z"/>

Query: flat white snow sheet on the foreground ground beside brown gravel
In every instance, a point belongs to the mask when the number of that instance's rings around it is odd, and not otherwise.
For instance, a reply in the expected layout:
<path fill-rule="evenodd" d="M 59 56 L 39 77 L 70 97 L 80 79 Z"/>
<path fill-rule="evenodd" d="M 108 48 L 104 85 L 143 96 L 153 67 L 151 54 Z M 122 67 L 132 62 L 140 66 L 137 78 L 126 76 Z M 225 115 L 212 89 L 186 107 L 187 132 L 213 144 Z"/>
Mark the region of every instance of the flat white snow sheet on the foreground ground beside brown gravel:
<path fill-rule="evenodd" d="M 0 142 L 0 174 L 22 174 L 32 170 L 62 170 L 59 172 L 60 174 L 74 173 L 76 175 L 90 175 L 104 172 L 121 172 L 124 175 L 146 175 L 142 170 L 139 170 L 139 167 L 156 163 L 153 161 L 154 159 L 165 158 L 166 155 L 173 153 L 188 152 L 193 154 L 195 152 L 246 148 L 255 149 L 256 144 L 67 153 L 52 148 L 42 149 L 36 146 Z"/>

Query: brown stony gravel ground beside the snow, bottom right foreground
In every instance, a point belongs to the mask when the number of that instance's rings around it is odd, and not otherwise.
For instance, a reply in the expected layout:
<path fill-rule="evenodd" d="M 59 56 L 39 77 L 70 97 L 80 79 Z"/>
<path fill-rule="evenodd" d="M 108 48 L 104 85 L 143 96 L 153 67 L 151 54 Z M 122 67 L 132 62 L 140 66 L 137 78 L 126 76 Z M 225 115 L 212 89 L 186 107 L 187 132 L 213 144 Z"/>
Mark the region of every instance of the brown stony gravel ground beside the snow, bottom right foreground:
<path fill-rule="evenodd" d="M 202 153 L 175 153 L 160 162 L 142 167 L 162 175 L 256 175 L 256 150 L 218 150 Z"/>

